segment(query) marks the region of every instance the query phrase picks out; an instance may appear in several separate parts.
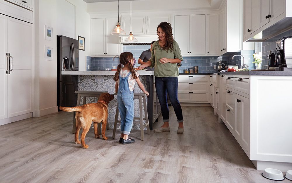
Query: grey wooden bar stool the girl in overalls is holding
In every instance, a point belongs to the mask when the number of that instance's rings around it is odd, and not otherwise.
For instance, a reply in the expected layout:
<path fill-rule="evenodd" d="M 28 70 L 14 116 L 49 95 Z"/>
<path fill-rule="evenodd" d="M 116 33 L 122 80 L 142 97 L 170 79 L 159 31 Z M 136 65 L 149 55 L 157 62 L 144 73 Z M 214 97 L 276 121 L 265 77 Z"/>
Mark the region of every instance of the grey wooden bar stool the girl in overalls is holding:
<path fill-rule="evenodd" d="M 134 93 L 134 99 L 139 99 L 139 109 L 140 109 L 140 117 L 134 117 L 134 120 L 138 119 L 140 121 L 133 121 L 133 123 L 140 123 L 141 140 L 143 141 L 145 127 L 147 129 L 147 134 L 150 134 L 147 105 L 146 105 L 146 94 L 145 93 Z M 143 117 L 142 102 L 143 102 L 145 117 Z M 119 109 L 118 109 L 118 105 L 117 105 L 116 116 L 114 118 L 114 130 L 112 132 L 112 138 L 114 138 L 116 136 L 117 123 L 121 122 L 120 120 L 118 120 L 118 117 L 119 117 Z M 143 120 L 145 120 L 145 123 L 143 123 Z"/>

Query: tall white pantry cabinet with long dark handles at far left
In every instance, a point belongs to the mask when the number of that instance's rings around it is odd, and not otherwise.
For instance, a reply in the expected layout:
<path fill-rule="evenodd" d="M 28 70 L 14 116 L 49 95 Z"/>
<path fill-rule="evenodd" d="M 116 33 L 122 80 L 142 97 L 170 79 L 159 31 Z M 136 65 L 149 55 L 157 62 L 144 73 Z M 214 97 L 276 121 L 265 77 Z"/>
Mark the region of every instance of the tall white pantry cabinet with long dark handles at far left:
<path fill-rule="evenodd" d="M 0 14 L 0 125 L 33 111 L 33 25 L 9 16 Z"/>

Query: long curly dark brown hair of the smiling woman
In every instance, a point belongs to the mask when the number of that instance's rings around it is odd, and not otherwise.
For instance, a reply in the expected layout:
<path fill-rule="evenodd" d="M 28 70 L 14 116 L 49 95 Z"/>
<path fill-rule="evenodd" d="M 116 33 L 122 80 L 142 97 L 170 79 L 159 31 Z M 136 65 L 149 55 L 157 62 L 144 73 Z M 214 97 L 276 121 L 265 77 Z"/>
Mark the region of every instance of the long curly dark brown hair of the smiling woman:
<path fill-rule="evenodd" d="M 168 50 L 170 50 L 170 52 L 172 52 L 174 38 L 173 38 L 173 34 L 172 34 L 171 24 L 167 23 L 167 22 L 161 22 L 158 25 L 156 32 L 158 32 L 159 27 L 164 31 L 165 38 L 166 38 L 165 44 L 163 45 L 162 49 L 166 50 L 167 53 L 168 53 Z M 158 35 L 158 33 L 157 33 L 157 35 Z M 159 39 L 159 37 L 158 37 L 158 39 Z"/>

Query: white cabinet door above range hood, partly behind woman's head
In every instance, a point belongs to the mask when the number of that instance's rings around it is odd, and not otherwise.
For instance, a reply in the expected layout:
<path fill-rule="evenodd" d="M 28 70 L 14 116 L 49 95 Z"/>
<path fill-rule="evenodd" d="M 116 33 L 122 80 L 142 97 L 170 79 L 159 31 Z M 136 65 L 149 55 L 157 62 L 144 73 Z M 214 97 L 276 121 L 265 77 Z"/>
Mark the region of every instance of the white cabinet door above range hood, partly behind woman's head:
<path fill-rule="evenodd" d="M 147 26 L 146 34 L 147 35 L 157 35 L 157 26 L 161 22 L 171 23 L 170 16 L 148 16 L 147 17 Z"/>

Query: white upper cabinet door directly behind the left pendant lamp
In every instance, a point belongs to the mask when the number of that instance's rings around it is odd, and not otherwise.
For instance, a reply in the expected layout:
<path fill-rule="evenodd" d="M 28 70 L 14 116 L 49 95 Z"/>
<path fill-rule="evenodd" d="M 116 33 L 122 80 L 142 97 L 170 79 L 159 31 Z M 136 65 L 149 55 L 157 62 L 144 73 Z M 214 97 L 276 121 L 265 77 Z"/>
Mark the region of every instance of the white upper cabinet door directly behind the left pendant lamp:
<path fill-rule="evenodd" d="M 117 18 L 107 18 L 105 20 L 105 24 L 106 24 L 105 54 L 112 56 L 119 55 L 120 54 L 119 36 L 110 34 L 110 32 L 116 27 Z"/>

